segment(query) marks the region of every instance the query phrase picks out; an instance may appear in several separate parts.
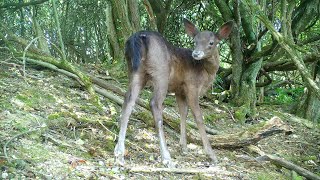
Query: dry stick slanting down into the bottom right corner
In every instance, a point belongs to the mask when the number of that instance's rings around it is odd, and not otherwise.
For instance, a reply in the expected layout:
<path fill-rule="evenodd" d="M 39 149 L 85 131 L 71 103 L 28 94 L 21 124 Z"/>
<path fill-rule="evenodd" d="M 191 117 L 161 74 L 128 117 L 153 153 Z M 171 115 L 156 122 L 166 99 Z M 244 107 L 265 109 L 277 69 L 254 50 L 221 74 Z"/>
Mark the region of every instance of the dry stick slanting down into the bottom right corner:
<path fill-rule="evenodd" d="M 249 150 L 259 154 L 261 157 L 259 157 L 259 159 L 263 159 L 263 160 L 267 160 L 267 161 L 271 161 L 273 164 L 276 165 L 280 165 L 282 167 L 285 167 L 287 169 L 293 170 L 295 172 L 297 172 L 298 174 L 308 178 L 308 179 L 314 179 L 314 180 L 320 180 L 320 177 L 300 166 L 297 166 L 295 164 L 293 164 L 290 161 L 287 161 L 283 158 L 271 155 L 271 154 L 266 154 L 263 151 L 261 151 L 257 146 L 248 146 Z"/>

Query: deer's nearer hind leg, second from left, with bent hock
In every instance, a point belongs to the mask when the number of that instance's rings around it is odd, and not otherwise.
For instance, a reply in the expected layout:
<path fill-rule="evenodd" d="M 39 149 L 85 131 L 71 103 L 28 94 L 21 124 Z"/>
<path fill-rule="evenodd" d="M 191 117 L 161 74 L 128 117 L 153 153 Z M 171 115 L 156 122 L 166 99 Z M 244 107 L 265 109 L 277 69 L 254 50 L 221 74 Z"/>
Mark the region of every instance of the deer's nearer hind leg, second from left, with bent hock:
<path fill-rule="evenodd" d="M 153 97 L 150 101 L 150 107 L 152 110 L 152 115 L 155 120 L 155 126 L 158 132 L 160 141 L 160 152 L 162 157 L 162 163 L 171 168 L 175 165 L 172 163 L 170 153 L 168 151 L 167 143 L 163 131 L 163 118 L 162 118 L 162 104 L 166 97 L 168 90 L 168 80 L 165 77 L 160 77 L 158 79 L 153 79 Z"/>

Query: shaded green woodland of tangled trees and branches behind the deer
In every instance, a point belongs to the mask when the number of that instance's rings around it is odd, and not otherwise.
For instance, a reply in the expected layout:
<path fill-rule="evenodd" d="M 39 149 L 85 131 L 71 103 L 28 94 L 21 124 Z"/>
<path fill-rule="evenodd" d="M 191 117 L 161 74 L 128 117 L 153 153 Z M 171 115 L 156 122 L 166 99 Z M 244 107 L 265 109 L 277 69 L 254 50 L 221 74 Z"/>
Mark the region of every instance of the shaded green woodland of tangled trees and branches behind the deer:
<path fill-rule="evenodd" d="M 32 74 L 28 68 L 68 76 L 88 93 L 87 101 L 99 115 L 105 102 L 98 94 L 107 102 L 122 103 L 118 96 L 124 95 L 120 86 L 127 82 L 126 39 L 136 31 L 153 30 L 174 45 L 192 48 L 183 18 L 201 30 L 215 31 L 229 20 L 235 23 L 230 38 L 220 44 L 217 79 L 202 99 L 208 107 L 228 106 L 232 111 L 227 114 L 239 124 L 261 119 L 265 113 L 259 107 L 274 105 L 316 126 L 320 123 L 319 0 L 2 0 L 0 67 L 18 67 L 24 78 Z M 3 84 L 6 76 L 0 74 Z M 144 111 L 149 109 L 148 98 L 143 94 L 137 102 Z M 9 107 L 4 102 L 2 109 Z M 170 114 L 165 116 L 167 125 L 178 127 Z M 135 117 L 152 124 L 150 116 Z M 97 123 L 88 119 L 85 123 Z"/>

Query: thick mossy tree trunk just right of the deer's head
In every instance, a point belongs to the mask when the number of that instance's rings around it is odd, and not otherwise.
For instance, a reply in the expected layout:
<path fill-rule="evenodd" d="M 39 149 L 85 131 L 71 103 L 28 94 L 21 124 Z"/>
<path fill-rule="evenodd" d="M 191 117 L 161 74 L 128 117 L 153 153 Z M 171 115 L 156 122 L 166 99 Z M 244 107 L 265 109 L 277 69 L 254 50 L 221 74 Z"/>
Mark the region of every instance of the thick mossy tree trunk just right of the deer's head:
<path fill-rule="evenodd" d="M 254 28 L 253 17 L 248 14 L 248 7 L 245 4 L 235 1 L 233 11 L 230 10 L 227 3 L 215 0 L 224 21 L 233 19 L 236 26 L 230 35 L 231 55 L 232 55 L 232 79 L 231 96 L 232 103 L 239 107 L 235 117 L 238 120 L 245 120 L 246 117 L 254 116 L 256 107 L 256 78 L 261 69 L 262 59 L 256 59 L 253 63 L 246 63 L 246 59 L 253 52 L 258 51 L 257 28 Z M 263 3 L 263 2 L 262 2 Z M 246 43 L 255 47 L 250 54 L 244 54 L 244 43 L 241 39 L 240 29 L 243 29 L 246 35 Z"/>

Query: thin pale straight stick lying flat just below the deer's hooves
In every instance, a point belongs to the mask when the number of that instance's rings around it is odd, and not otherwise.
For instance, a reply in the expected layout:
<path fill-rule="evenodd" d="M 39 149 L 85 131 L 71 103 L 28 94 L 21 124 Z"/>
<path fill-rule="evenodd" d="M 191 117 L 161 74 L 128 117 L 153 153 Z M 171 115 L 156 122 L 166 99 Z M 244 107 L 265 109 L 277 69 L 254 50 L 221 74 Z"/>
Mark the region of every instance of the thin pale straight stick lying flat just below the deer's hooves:
<path fill-rule="evenodd" d="M 128 167 L 129 172 L 140 173 L 155 173 L 155 172 L 167 172 L 167 173 L 184 173 L 184 174 L 213 174 L 223 177 L 240 177 L 238 173 L 221 170 L 218 167 L 210 167 L 205 169 L 199 168 L 153 168 L 148 166 L 135 166 Z"/>

